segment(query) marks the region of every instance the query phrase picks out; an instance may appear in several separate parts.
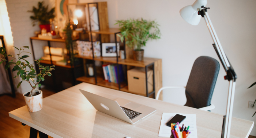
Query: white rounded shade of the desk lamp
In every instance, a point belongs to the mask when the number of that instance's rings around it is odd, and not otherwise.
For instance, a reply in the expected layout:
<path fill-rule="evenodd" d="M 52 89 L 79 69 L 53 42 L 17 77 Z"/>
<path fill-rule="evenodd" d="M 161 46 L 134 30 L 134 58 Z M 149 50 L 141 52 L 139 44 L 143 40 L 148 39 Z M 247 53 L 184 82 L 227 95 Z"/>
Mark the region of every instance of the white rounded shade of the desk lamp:
<path fill-rule="evenodd" d="M 197 14 L 197 8 L 200 10 L 202 6 L 206 6 L 207 0 L 196 0 L 192 5 L 183 7 L 180 10 L 180 16 L 189 24 L 197 25 L 200 22 L 201 16 Z"/>

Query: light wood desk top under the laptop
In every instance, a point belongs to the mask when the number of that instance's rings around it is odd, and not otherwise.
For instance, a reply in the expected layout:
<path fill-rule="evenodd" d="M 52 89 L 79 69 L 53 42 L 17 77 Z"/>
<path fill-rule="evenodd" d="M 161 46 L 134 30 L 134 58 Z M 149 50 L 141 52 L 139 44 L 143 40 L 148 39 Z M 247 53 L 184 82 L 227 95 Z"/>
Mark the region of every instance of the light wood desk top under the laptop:
<path fill-rule="evenodd" d="M 157 111 L 136 124 L 97 111 L 78 90 L 83 89 L 109 99 L 125 98 Z M 44 94 L 44 93 L 43 93 Z M 199 138 L 220 138 L 223 116 L 191 107 L 167 103 L 118 90 L 82 83 L 43 99 L 43 109 L 30 113 L 26 106 L 9 112 L 10 117 L 54 138 L 155 138 L 162 113 L 196 114 Z M 232 118 L 231 138 L 246 138 L 252 121 Z"/>

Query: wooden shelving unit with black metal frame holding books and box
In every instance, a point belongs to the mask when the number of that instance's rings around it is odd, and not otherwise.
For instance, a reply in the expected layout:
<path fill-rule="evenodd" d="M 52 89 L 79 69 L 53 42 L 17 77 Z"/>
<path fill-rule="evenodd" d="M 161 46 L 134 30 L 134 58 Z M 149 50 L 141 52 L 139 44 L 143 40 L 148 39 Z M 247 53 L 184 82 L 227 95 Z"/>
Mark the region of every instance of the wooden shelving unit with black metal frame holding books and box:
<path fill-rule="evenodd" d="M 98 36 L 98 39 L 99 39 L 98 41 L 100 41 L 100 44 L 102 44 L 104 42 L 110 42 L 110 35 L 114 35 L 114 40 L 115 40 L 114 42 L 116 43 L 116 49 L 117 49 L 117 37 L 118 37 L 117 34 L 119 34 L 121 32 L 120 32 L 119 28 L 109 28 L 108 7 L 107 7 L 106 2 L 68 4 L 68 5 L 76 5 L 76 8 L 80 8 L 80 9 L 84 9 L 84 7 L 91 7 L 91 6 L 96 7 L 96 10 L 98 10 L 97 13 L 98 13 L 98 20 L 99 20 L 99 22 L 98 22 L 99 30 L 92 31 L 90 17 L 89 18 L 80 17 L 80 19 L 83 19 L 83 21 L 85 19 L 86 20 L 89 19 L 89 22 L 87 22 L 87 23 L 90 23 L 90 25 L 89 25 L 90 28 L 88 28 L 89 31 L 87 31 L 87 33 L 89 33 L 89 35 L 90 35 L 91 44 L 93 44 L 93 42 L 95 41 L 93 36 Z M 88 15 L 91 15 L 89 8 L 87 8 L 87 9 L 88 9 Z M 82 11 L 82 12 L 85 13 L 85 11 Z M 71 18 L 72 18 L 72 16 L 71 16 Z M 69 19 L 69 20 L 72 20 L 72 19 Z M 79 23 L 78 23 L 77 27 L 82 28 L 82 27 L 79 27 Z M 94 34 L 94 35 L 92 35 L 92 34 Z M 98 35 L 95 35 L 95 34 L 98 34 Z M 121 49 L 121 45 L 122 44 L 120 44 L 120 49 Z M 125 41 L 123 42 L 123 48 L 124 48 L 124 53 L 126 54 Z M 127 80 L 124 82 L 113 83 L 113 82 L 105 81 L 105 79 L 103 78 L 102 75 L 97 75 L 95 61 L 101 61 L 102 63 L 108 62 L 108 63 L 124 65 L 124 70 L 125 70 L 124 74 L 127 74 L 126 73 L 127 66 L 142 67 L 142 68 L 145 68 L 146 72 L 148 69 L 152 69 L 153 70 L 153 78 L 154 78 L 153 79 L 153 92 L 148 92 L 148 89 L 147 89 L 146 95 L 144 95 L 144 96 L 149 97 L 151 95 L 154 98 L 155 92 L 157 92 L 162 87 L 162 60 L 161 59 L 144 57 L 143 61 L 135 61 L 132 59 L 126 59 L 126 55 L 125 55 L 125 59 L 120 59 L 117 56 L 117 53 L 116 53 L 116 57 L 102 57 L 102 56 L 95 57 L 94 51 L 93 51 L 94 48 L 91 48 L 91 49 L 92 49 L 93 57 L 88 57 L 88 56 L 76 56 L 76 57 L 84 59 L 84 63 L 86 63 L 87 60 L 93 61 L 92 63 L 93 63 L 93 69 L 94 69 L 94 77 L 82 76 L 82 77 L 76 78 L 76 81 L 87 82 L 90 84 L 95 84 L 95 85 L 103 86 L 106 88 L 129 92 L 128 86 L 127 86 Z M 102 46 L 101 46 L 101 49 L 102 49 Z M 91 61 L 89 61 L 89 62 L 91 63 Z M 117 75 L 118 76 L 120 75 L 120 74 L 118 74 L 118 71 L 117 71 Z M 125 77 L 125 78 L 127 78 L 127 77 Z M 146 80 L 147 80 L 147 75 L 146 75 Z M 146 83 L 146 88 L 147 88 L 147 85 L 148 85 L 148 83 Z M 132 93 L 132 92 L 129 92 L 129 93 Z"/>

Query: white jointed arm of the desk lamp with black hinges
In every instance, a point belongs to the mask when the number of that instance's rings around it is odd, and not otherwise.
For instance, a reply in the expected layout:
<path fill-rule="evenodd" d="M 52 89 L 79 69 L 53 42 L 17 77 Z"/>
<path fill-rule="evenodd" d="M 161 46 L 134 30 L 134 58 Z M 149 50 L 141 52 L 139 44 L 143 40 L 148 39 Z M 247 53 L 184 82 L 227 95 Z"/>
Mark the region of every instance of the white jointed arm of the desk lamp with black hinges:
<path fill-rule="evenodd" d="M 219 57 L 219 60 L 221 61 L 222 66 L 225 69 L 225 72 L 227 74 L 224 78 L 225 78 L 225 80 L 229 81 L 227 110 L 226 110 L 226 115 L 223 116 L 222 134 L 221 134 L 221 138 L 229 138 L 237 76 L 236 76 L 236 73 L 234 72 L 234 69 L 231 66 L 229 60 L 226 57 L 226 54 L 221 46 L 221 43 L 219 42 L 219 38 L 215 32 L 215 29 L 211 23 L 210 17 L 207 13 L 208 8 L 205 8 L 205 7 L 202 7 L 202 8 L 203 9 L 198 12 L 198 15 L 201 15 L 202 17 L 204 17 L 204 20 L 206 21 L 206 25 L 209 29 L 212 40 L 214 41 L 214 44 L 212 44 L 212 45 L 213 45 L 213 47 Z"/>

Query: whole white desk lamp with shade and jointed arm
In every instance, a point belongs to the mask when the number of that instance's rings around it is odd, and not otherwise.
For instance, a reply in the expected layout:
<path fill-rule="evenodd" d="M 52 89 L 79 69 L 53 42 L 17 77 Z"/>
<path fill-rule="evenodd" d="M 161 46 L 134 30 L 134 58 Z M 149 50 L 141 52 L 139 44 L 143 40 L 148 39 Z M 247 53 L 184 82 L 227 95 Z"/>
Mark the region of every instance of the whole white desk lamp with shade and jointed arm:
<path fill-rule="evenodd" d="M 210 8 L 204 7 L 206 4 L 207 0 L 196 0 L 192 5 L 182 8 L 180 10 L 180 15 L 185 21 L 192 25 L 199 24 L 201 16 L 204 17 L 207 27 L 211 33 L 212 40 L 214 41 L 214 44 L 212 45 L 227 73 L 227 75 L 224 76 L 224 79 L 229 81 L 229 92 L 227 98 L 227 111 L 226 115 L 223 117 L 221 138 L 229 138 L 237 76 L 222 49 L 221 43 L 219 42 L 218 36 L 207 13 L 207 9 Z"/>

